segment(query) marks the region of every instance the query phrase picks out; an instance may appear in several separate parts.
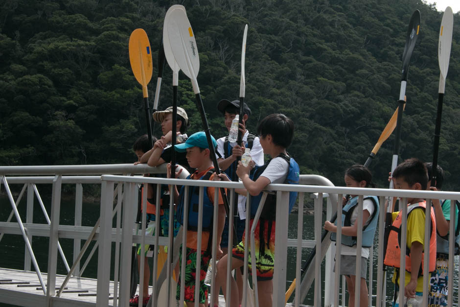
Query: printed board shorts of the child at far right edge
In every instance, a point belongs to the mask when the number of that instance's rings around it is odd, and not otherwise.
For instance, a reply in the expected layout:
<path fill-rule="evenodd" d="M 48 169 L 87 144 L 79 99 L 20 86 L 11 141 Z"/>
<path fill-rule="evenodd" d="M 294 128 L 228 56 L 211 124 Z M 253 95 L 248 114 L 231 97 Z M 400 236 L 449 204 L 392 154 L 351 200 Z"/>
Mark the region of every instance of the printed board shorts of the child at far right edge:
<path fill-rule="evenodd" d="M 428 306 L 447 306 L 447 281 L 448 281 L 448 259 L 446 254 L 436 255 L 436 270 L 430 276 L 430 292 L 428 292 Z"/>

